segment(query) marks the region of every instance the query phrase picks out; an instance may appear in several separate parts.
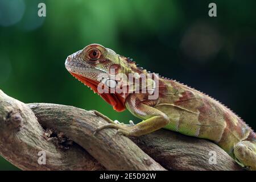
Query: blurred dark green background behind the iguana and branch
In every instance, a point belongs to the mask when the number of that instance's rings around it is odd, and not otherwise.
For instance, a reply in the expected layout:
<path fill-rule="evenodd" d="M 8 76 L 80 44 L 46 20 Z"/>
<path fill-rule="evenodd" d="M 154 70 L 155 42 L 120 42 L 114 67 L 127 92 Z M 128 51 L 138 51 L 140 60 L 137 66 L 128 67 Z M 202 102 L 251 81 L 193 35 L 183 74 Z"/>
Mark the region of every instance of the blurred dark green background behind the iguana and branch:
<path fill-rule="evenodd" d="M 38 3 L 46 17 L 38 17 Z M 208 16 L 210 2 L 217 17 Z M 256 129 L 256 1 L 0 0 L 0 89 L 20 101 L 117 113 L 65 70 L 90 43 L 220 100 Z M 17 169 L 0 158 L 0 169 Z"/>

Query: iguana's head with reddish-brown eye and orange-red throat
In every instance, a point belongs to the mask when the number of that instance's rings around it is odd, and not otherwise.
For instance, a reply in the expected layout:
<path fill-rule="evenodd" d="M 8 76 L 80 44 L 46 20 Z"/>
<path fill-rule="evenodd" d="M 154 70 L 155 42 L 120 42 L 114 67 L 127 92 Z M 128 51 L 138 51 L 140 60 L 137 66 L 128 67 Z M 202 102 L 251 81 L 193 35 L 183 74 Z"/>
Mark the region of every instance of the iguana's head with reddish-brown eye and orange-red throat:
<path fill-rule="evenodd" d="M 127 75 L 142 72 L 142 69 L 138 69 L 133 61 L 100 44 L 90 44 L 69 55 L 65 61 L 65 67 L 74 77 L 89 86 L 94 93 L 98 93 L 117 111 L 125 110 L 125 99 L 128 94 L 99 93 L 98 84 L 104 83 L 108 88 L 112 88 L 117 84 L 113 77 L 118 73 Z"/>

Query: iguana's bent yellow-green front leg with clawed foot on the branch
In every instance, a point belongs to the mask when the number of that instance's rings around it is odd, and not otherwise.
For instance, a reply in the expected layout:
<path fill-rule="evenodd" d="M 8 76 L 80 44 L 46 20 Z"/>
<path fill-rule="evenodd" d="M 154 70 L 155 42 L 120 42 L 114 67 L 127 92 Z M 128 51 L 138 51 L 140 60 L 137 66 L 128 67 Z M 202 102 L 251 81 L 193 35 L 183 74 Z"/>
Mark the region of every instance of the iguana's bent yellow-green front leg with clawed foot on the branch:
<path fill-rule="evenodd" d="M 123 135 L 138 137 L 166 126 L 170 122 L 167 115 L 150 106 L 150 102 L 144 102 L 142 97 L 141 94 L 130 94 L 126 99 L 126 108 L 136 117 L 143 119 L 142 122 L 134 126 L 109 123 L 98 127 L 95 133 L 102 129 L 115 128 Z"/>

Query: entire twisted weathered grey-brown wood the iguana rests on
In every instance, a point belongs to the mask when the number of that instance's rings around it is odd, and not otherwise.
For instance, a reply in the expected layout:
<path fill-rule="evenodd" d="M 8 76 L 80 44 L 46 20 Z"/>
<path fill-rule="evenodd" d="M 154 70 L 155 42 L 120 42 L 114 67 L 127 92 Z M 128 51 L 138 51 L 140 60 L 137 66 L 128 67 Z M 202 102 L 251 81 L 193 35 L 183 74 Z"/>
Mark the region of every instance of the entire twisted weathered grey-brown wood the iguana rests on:
<path fill-rule="evenodd" d="M 242 169 L 216 144 L 168 130 L 130 139 L 115 135 L 115 129 L 93 135 L 105 123 L 93 111 L 56 104 L 26 105 L 0 90 L 0 155 L 20 169 Z M 46 151 L 46 165 L 38 164 L 39 151 Z M 210 151 L 216 152 L 217 164 L 209 164 Z"/>

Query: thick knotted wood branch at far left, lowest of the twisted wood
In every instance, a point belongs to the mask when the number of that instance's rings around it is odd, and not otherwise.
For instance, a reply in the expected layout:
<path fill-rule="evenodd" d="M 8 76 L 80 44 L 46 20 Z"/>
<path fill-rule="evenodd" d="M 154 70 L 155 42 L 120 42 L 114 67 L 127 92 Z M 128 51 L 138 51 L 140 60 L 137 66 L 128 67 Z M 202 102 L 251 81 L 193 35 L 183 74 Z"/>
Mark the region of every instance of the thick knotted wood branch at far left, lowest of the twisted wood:
<path fill-rule="evenodd" d="M 78 144 L 64 151 L 45 133 L 30 107 L 0 90 L 0 155 L 6 160 L 23 170 L 105 169 Z M 46 152 L 46 165 L 38 163 L 40 151 Z"/>

